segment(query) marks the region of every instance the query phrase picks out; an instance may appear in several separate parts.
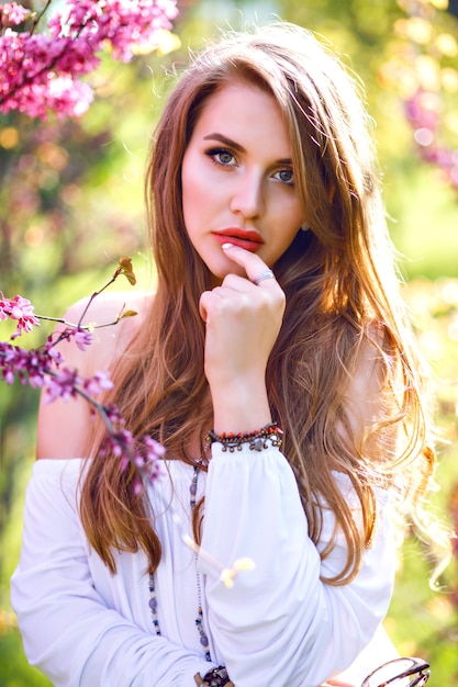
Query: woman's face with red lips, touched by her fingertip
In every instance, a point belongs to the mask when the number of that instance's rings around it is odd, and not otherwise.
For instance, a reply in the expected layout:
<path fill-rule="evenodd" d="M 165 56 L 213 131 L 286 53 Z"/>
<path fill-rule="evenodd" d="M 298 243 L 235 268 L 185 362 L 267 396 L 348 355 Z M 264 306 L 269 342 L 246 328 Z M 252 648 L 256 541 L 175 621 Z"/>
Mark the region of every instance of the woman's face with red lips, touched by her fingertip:
<path fill-rule="evenodd" d="M 185 151 L 182 204 L 189 238 L 215 281 L 243 274 L 232 243 L 272 266 L 304 215 L 283 115 L 271 95 L 234 81 L 206 101 Z"/>

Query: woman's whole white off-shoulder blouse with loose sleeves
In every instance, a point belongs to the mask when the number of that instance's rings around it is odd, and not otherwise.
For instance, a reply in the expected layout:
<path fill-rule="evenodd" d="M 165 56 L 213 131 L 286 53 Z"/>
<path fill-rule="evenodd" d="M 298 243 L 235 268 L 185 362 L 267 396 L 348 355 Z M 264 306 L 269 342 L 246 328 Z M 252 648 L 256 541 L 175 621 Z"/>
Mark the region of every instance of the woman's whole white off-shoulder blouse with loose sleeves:
<path fill-rule="evenodd" d="M 197 495 L 205 494 L 206 555 L 199 577 L 214 662 L 209 664 L 196 628 L 197 560 L 182 539 L 190 533 L 192 468 L 167 461 L 170 478 L 150 489 L 164 548 L 156 573 L 163 633 L 157 637 L 144 554 L 118 553 L 113 576 L 86 540 L 76 505 L 82 464 L 78 459 L 34 464 L 12 578 L 25 653 L 54 685 L 193 687 L 196 673 L 225 664 L 236 687 L 317 687 L 346 668 L 378 631 L 394 575 L 384 492 L 378 492 L 381 518 L 361 570 L 350 584 L 333 587 L 320 575 L 340 570 L 344 542 L 339 539 L 321 564 L 284 457 L 275 448 L 223 453 L 214 444 Z M 355 500 L 349 481 L 335 478 Z M 333 527 L 325 511 L 321 547 Z M 256 568 L 239 572 L 231 589 L 208 556 L 226 567 L 249 556 Z M 381 658 L 377 655 L 376 664 Z M 366 663 L 359 669 L 355 663 L 354 678 L 362 679 Z"/>

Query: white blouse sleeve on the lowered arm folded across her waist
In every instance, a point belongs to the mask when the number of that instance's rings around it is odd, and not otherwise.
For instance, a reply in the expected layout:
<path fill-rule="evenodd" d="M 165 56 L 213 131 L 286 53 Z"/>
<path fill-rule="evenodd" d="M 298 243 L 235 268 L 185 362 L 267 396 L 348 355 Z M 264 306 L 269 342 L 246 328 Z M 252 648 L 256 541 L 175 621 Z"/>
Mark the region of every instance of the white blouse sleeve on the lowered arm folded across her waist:
<path fill-rule="evenodd" d="M 64 461 L 42 462 L 53 466 L 29 485 L 11 584 L 30 663 L 56 687 L 196 687 L 193 675 L 209 669 L 202 656 L 142 631 L 94 588 L 75 505 L 80 461 L 65 472 Z"/>

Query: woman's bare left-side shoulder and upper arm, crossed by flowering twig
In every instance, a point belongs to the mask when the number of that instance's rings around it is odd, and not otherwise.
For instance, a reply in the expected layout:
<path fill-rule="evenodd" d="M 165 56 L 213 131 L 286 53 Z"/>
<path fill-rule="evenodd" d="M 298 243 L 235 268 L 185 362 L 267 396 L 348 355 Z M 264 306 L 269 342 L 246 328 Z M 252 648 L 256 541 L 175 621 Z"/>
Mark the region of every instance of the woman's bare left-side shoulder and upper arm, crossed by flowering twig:
<path fill-rule="evenodd" d="M 57 349 L 64 358 L 62 368 L 76 370 L 83 379 L 96 372 L 110 372 L 137 334 L 153 299 L 154 295 L 148 293 L 109 292 L 97 296 L 89 307 L 88 299 L 75 303 L 66 312 L 65 323 L 90 325 L 92 342 L 81 350 L 75 337 L 60 341 Z M 58 324 L 56 335 L 66 326 Z M 48 403 L 46 391 L 42 393 L 36 444 L 38 459 L 85 458 L 93 432 L 93 415 L 85 398 L 77 395 Z"/>

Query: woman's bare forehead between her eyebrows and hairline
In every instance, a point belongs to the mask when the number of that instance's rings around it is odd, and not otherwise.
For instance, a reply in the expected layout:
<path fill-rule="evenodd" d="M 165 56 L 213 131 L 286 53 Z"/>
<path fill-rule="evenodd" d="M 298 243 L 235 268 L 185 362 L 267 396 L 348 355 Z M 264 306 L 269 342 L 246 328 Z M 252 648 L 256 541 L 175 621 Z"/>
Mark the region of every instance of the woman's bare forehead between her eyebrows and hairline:
<path fill-rule="evenodd" d="M 286 117 L 273 95 L 259 86 L 234 80 L 204 102 L 193 136 L 219 132 L 246 145 L 249 140 L 282 150 L 290 148 Z"/>

